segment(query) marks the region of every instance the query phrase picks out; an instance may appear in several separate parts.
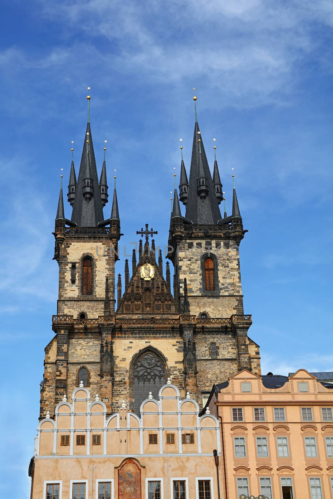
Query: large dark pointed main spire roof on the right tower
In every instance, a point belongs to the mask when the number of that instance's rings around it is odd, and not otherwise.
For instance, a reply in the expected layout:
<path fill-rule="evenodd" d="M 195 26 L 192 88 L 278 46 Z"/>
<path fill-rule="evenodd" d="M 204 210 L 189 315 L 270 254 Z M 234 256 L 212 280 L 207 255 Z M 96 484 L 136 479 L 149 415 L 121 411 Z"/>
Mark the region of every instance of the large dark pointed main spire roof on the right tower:
<path fill-rule="evenodd" d="M 186 205 L 186 218 L 191 220 L 193 224 L 217 224 L 222 218 L 218 201 L 216 199 L 215 189 L 213 187 L 213 180 L 209 171 L 209 166 L 206 158 L 205 148 L 201 137 L 201 158 L 204 177 L 207 179 L 209 188 L 208 195 L 202 201 L 197 192 L 197 178 L 199 169 L 199 143 L 198 132 L 200 131 L 199 125 L 196 122 L 194 127 L 192 158 L 190 168 L 190 180 L 188 187 L 188 198 Z"/>

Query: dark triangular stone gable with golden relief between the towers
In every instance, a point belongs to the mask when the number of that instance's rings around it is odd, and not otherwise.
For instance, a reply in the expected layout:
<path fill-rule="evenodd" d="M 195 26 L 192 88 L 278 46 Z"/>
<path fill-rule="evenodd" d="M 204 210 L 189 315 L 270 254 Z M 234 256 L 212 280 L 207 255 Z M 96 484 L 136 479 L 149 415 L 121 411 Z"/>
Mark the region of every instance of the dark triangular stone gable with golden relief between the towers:
<path fill-rule="evenodd" d="M 177 304 L 152 251 L 145 248 L 117 308 L 121 314 L 178 314 Z"/>

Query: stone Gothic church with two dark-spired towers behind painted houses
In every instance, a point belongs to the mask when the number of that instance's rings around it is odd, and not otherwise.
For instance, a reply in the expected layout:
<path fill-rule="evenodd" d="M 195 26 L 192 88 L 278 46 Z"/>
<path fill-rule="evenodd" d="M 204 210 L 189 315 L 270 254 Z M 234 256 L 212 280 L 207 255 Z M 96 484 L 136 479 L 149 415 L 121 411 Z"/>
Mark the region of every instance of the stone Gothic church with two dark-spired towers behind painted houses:
<path fill-rule="evenodd" d="M 78 177 L 72 160 L 64 215 L 60 188 L 55 219 L 54 259 L 59 265 L 54 338 L 45 348 L 40 419 L 80 382 L 98 393 L 108 414 L 122 401 L 139 414 L 149 392 L 171 378 L 181 397 L 190 392 L 202 406 L 214 382 L 247 368 L 260 374 L 259 347 L 248 337 L 251 315 L 244 315 L 239 245 L 246 231 L 233 190 L 232 215 L 221 217 L 222 184 L 215 159 L 211 176 L 195 112 L 189 181 L 181 161 L 179 199 L 175 189 L 170 220 L 168 259 L 163 275 L 162 254 L 155 254 L 155 233 L 138 231 L 139 251 L 133 250 L 130 277 L 115 282 L 120 217 L 114 179 L 110 217 L 106 162 L 98 182 L 89 120 Z M 196 97 L 195 97 L 196 101 Z M 196 105 L 196 102 L 195 102 Z M 216 158 L 216 157 L 215 157 Z M 115 307 L 117 288 L 117 307 Z M 81 385 L 82 385 L 81 383 Z"/>

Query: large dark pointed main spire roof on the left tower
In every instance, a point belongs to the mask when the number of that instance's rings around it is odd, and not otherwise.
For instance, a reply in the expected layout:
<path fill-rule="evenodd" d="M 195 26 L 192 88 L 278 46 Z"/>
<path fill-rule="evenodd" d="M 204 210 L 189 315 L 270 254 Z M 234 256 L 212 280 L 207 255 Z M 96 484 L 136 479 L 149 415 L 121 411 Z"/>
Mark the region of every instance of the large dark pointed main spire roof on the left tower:
<path fill-rule="evenodd" d="M 97 224 L 103 221 L 104 217 L 90 123 L 87 123 L 86 133 L 89 134 L 89 144 L 87 148 L 87 135 L 85 135 L 71 220 L 72 222 L 75 222 L 78 227 L 97 227 Z M 86 172 L 89 172 L 93 181 L 93 195 L 89 203 L 84 199 L 82 192 L 83 179 L 86 178 Z"/>

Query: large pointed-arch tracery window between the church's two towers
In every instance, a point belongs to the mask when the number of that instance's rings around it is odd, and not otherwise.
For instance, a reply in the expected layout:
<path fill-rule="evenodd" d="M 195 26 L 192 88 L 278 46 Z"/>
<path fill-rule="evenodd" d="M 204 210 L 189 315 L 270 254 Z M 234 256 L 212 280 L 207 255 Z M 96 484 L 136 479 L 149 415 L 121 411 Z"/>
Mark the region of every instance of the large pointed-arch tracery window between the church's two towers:
<path fill-rule="evenodd" d="M 140 415 L 140 406 L 152 393 L 157 399 L 158 392 L 165 384 L 165 367 L 162 361 L 149 352 L 140 357 L 133 367 L 134 412 Z"/>

